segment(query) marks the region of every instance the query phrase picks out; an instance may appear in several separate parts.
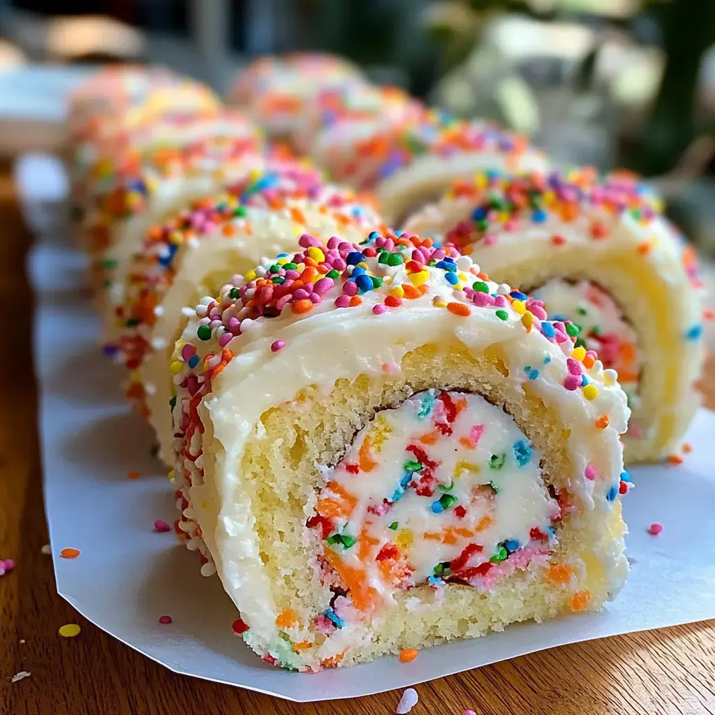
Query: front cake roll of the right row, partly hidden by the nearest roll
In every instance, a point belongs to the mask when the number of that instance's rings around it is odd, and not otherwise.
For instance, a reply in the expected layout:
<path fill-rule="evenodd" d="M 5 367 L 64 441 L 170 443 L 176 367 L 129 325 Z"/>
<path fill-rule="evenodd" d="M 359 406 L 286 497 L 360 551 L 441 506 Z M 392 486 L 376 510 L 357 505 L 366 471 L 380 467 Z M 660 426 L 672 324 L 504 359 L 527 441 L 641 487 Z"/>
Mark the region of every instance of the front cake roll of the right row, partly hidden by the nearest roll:
<path fill-rule="evenodd" d="M 407 222 L 573 320 L 578 345 L 597 350 L 628 395 L 631 463 L 676 450 L 699 403 L 701 284 L 693 251 L 659 208 L 633 179 L 591 169 L 490 172 L 456 182 Z"/>

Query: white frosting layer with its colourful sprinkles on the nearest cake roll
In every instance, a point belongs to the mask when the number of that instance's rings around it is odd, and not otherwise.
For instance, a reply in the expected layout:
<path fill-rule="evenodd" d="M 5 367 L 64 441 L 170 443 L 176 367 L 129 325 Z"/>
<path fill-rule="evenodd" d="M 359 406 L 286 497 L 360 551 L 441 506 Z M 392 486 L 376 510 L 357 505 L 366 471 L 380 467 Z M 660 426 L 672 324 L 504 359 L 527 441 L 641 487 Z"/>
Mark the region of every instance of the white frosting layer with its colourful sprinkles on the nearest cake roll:
<path fill-rule="evenodd" d="M 567 324 L 430 240 L 373 233 L 362 245 L 309 236 L 300 245 L 202 301 L 174 353 L 183 363 L 174 406 L 179 530 L 202 553 L 202 572 L 217 569 L 252 644 L 270 647 L 278 613 L 240 465 L 247 441 L 261 439 L 262 415 L 303 388 L 327 393 L 344 378 L 378 379 L 424 345 L 498 350 L 508 398 L 535 395 L 568 425 L 572 498 L 584 511 L 610 513 L 625 484 L 626 396 L 593 352 L 574 347 Z M 627 572 L 622 542 L 594 548 L 617 589 Z"/>

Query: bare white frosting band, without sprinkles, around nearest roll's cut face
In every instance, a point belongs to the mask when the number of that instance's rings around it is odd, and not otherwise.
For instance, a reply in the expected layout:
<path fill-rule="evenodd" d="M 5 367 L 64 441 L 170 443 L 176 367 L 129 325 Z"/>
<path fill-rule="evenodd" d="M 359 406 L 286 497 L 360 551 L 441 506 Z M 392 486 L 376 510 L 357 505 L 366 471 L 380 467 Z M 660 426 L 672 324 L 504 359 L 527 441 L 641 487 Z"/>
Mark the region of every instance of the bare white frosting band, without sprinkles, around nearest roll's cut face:
<path fill-rule="evenodd" d="M 561 347 L 536 330 L 526 333 L 518 317 L 500 320 L 490 310 L 473 310 L 468 317 L 445 313 L 433 305 L 433 297 L 460 300 L 458 291 L 445 282 L 441 271 L 426 270 L 430 272 L 430 291 L 400 310 L 374 315 L 373 306 L 382 295 L 371 291 L 363 295 L 358 307 L 335 310 L 324 301 L 298 320 L 285 311 L 272 320 L 255 321 L 250 330 L 229 343 L 236 357 L 212 381 L 212 394 L 199 405 L 204 433 L 195 430 L 189 450 L 194 455 L 203 453 L 195 462 L 179 460 L 177 467 L 191 475 L 194 516 L 222 583 L 252 624 L 251 637 L 257 644 L 267 647 L 277 636 L 277 613 L 240 465 L 247 440 L 262 438 L 261 415 L 292 400 L 309 385 L 327 394 L 340 378 L 363 373 L 380 378 L 385 365 L 399 369 L 403 357 L 421 345 L 460 345 L 475 355 L 499 345 L 509 370 L 504 388 L 510 400 L 523 399 L 525 366 L 541 366 L 540 379 L 530 381 L 529 390 L 551 405 L 568 425 L 566 448 L 574 469 L 570 493 L 586 510 L 611 509 L 605 495 L 623 468 L 617 435 L 626 430 L 629 413 L 617 383 L 604 382 L 596 363 L 589 371 L 589 379 L 598 385 L 593 401 L 587 402 L 578 390 L 565 390 L 566 355 Z M 391 275 L 393 285 L 408 282 L 405 267 L 394 269 Z M 182 340 L 192 342 L 205 355 L 207 347 L 196 336 L 198 326 L 198 320 L 190 322 Z M 272 352 L 270 345 L 277 339 L 284 340 L 285 347 Z M 181 420 L 186 399 L 188 395 L 179 395 L 175 420 Z M 603 414 L 608 415 L 608 427 L 594 429 L 595 420 Z M 601 478 L 583 478 L 589 464 Z M 319 480 L 316 470 L 316 482 Z M 306 520 L 310 516 L 312 506 L 306 505 Z M 614 590 L 628 571 L 617 547 L 614 543 L 596 553 Z"/>

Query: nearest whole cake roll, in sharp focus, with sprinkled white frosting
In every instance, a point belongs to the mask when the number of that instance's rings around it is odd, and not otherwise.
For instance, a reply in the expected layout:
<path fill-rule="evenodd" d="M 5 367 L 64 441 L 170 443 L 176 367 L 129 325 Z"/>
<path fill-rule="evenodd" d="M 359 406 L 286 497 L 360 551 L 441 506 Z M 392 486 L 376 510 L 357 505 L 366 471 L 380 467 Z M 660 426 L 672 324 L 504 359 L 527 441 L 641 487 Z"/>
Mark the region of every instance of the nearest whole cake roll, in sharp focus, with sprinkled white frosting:
<path fill-rule="evenodd" d="M 628 571 L 613 370 L 453 248 L 300 247 L 174 352 L 177 531 L 235 631 L 316 671 L 601 608 Z"/>

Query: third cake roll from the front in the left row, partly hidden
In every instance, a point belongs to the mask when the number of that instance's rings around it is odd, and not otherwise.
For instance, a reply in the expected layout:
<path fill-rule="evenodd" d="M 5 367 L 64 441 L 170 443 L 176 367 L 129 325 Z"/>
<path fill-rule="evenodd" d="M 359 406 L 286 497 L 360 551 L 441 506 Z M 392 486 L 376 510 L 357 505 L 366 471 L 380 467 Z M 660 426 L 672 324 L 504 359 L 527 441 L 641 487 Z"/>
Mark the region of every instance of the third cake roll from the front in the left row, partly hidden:
<path fill-rule="evenodd" d="M 149 227 L 263 167 L 267 157 L 258 153 L 261 149 L 255 137 L 216 137 L 182 149 L 161 149 L 114 182 L 114 189 L 98 200 L 87 218 L 85 230 L 98 306 L 112 310 L 121 302 L 129 260 Z"/>

